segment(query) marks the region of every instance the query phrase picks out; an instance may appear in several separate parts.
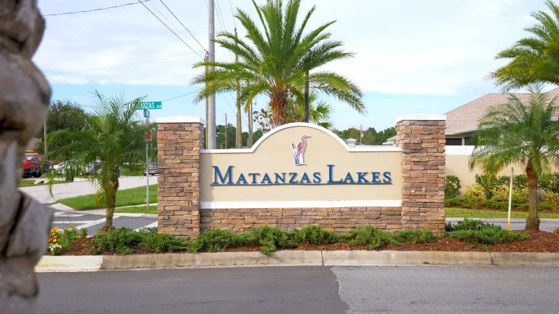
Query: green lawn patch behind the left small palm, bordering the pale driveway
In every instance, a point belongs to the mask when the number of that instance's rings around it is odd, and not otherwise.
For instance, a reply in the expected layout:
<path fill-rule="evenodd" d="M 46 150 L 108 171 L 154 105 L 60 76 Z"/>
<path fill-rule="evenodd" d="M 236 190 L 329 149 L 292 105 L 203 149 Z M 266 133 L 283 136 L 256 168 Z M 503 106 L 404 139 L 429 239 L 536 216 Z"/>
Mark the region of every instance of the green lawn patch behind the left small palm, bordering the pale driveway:
<path fill-rule="evenodd" d="M 150 203 L 157 202 L 157 186 L 158 184 L 150 185 Z M 95 194 L 63 198 L 58 202 L 78 211 L 105 208 L 105 204 L 96 204 Z M 140 204 L 145 204 L 145 186 L 117 191 L 117 207 Z"/>

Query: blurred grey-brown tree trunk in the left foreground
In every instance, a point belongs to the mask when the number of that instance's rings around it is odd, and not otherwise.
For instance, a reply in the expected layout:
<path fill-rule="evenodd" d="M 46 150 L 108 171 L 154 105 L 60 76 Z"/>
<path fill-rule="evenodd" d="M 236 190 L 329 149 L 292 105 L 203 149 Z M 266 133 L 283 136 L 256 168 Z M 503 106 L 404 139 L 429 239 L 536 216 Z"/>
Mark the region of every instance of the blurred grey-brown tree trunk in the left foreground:
<path fill-rule="evenodd" d="M 0 0 L 0 312 L 36 313 L 34 267 L 52 211 L 17 190 L 31 137 L 43 127 L 50 87 L 31 62 L 45 21 L 36 0 Z"/>

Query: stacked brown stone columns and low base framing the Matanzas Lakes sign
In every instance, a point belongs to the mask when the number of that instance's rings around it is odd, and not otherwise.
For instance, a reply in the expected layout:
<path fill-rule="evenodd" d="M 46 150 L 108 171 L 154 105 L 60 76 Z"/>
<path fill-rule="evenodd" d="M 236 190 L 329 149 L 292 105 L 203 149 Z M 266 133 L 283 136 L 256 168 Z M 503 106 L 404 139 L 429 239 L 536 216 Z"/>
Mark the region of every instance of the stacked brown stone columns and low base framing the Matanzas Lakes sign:
<path fill-rule="evenodd" d="M 397 120 L 402 207 L 201 209 L 203 121 L 176 117 L 157 122 L 159 232 L 196 237 L 212 228 L 246 232 L 263 225 L 284 230 L 319 225 L 335 232 L 366 225 L 389 231 L 426 228 L 444 232 L 444 116 Z"/>

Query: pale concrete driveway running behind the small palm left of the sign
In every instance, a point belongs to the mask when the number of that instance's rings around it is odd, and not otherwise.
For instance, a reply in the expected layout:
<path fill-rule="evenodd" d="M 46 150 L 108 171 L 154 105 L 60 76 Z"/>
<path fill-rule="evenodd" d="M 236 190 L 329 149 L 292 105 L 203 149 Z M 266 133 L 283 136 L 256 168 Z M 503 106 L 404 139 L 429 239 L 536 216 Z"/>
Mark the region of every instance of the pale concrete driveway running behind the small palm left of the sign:
<path fill-rule="evenodd" d="M 145 181 L 145 177 L 120 177 L 119 189 L 124 190 L 125 188 L 145 186 Z M 157 184 L 157 177 L 150 177 L 150 185 L 151 184 Z M 50 196 L 47 186 L 27 186 L 20 188 L 20 190 L 42 204 L 53 204 L 61 198 L 93 194 L 96 192 L 96 188 L 91 181 L 55 184 L 52 186 L 52 194 L 55 195 L 55 197 Z"/>

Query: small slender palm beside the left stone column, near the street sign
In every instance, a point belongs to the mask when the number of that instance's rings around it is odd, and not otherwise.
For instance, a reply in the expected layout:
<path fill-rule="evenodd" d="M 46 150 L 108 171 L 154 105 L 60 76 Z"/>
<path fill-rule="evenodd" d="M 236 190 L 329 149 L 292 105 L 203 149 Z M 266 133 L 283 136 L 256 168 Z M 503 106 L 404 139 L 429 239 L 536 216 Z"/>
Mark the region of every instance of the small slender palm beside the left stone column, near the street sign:
<path fill-rule="evenodd" d="M 95 171 L 87 179 L 96 186 L 98 202 L 106 205 L 106 223 L 101 229 L 106 232 L 113 228 L 119 169 L 124 163 L 132 168 L 145 165 L 144 136 L 154 125 L 144 126 L 137 119 L 136 108 L 141 98 L 126 101 L 123 95 L 106 98 L 98 91 L 93 94 L 96 107 L 92 114 L 84 114 L 85 125 L 80 130 L 51 133 L 48 142 L 66 139 L 67 144 L 52 154 L 71 156 L 71 160 L 66 160 L 68 167 L 83 171 L 87 165 L 94 165 Z M 50 176 L 54 175 L 50 172 Z"/>

